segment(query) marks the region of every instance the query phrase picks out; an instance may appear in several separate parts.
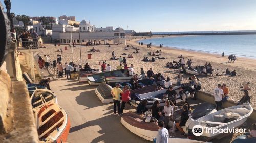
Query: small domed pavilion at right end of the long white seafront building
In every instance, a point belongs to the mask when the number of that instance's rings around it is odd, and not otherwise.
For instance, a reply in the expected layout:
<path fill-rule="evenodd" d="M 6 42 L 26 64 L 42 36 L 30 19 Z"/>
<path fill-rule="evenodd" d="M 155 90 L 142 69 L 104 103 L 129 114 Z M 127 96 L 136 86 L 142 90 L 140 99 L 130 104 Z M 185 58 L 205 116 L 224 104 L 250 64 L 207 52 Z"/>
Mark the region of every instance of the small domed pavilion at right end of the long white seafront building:
<path fill-rule="evenodd" d="M 118 27 L 114 30 L 114 44 L 124 44 L 126 45 L 126 36 L 125 36 L 125 30 Z"/>

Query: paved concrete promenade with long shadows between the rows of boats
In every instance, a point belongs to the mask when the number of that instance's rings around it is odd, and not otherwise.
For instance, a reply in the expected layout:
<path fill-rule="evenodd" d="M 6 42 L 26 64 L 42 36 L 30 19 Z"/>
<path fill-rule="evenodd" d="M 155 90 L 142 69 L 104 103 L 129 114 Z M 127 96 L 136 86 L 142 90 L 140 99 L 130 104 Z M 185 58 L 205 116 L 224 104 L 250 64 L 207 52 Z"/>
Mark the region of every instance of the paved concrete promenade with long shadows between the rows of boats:
<path fill-rule="evenodd" d="M 52 78 L 46 69 L 43 74 Z M 103 104 L 96 96 L 96 86 L 60 78 L 50 87 L 71 121 L 67 142 L 148 142 L 122 126 L 121 116 L 113 115 L 113 104 Z"/>

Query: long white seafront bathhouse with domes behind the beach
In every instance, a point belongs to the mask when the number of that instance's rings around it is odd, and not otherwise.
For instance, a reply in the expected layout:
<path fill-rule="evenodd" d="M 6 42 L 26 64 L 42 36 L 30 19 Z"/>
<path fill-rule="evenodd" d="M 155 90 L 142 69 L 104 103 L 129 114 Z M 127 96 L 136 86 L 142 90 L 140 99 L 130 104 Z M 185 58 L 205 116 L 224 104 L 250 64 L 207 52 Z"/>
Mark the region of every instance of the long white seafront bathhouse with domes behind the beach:
<path fill-rule="evenodd" d="M 79 41 L 79 32 L 80 40 Z M 52 41 L 69 44 L 79 42 L 91 42 L 107 44 L 109 40 L 113 40 L 114 44 L 126 44 L 125 31 L 118 27 L 113 30 L 113 27 L 96 28 L 90 22 L 83 20 L 79 23 L 79 27 L 74 27 L 67 24 L 59 24 L 52 26 Z"/>

